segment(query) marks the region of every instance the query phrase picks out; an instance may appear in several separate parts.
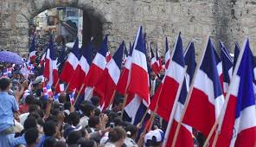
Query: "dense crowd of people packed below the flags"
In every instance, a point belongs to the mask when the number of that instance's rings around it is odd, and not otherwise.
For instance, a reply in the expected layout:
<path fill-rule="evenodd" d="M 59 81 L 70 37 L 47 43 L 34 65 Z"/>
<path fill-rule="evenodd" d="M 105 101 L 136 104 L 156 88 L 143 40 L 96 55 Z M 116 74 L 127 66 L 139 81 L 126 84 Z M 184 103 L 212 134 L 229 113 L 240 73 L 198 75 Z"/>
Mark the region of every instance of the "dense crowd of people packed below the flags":
<path fill-rule="evenodd" d="M 106 111 L 100 110 L 97 96 L 77 105 L 70 102 L 70 92 L 61 93 L 57 99 L 45 99 L 43 78 L 38 76 L 42 73 L 41 57 L 36 55 L 34 72 L 29 77 L 22 74 L 22 66 L 1 63 L 1 75 L 3 69 L 12 68 L 11 74 L 0 79 L 1 147 L 163 146 L 167 122 L 156 117 L 150 131 L 142 133 L 143 124 L 131 125 L 125 114 L 122 115 L 124 97 L 118 94 L 112 109 Z M 150 95 L 156 91 L 163 75 L 164 69 L 157 76 L 150 72 Z M 54 93 L 54 87 L 52 90 Z M 200 139 L 195 139 L 195 146 L 198 142 Z"/>

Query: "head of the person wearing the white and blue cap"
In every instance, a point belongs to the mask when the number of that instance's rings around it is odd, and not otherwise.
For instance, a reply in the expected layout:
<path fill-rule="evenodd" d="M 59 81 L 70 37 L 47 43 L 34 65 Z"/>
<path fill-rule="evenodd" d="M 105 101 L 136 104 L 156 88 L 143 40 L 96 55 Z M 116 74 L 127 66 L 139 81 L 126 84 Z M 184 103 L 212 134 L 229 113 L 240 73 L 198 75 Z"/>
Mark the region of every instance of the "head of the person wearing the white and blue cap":
<path fill-rule="evenodd" d="M 161 147 L 163 145 L 164 132 L 160 129 L 149 131 L 144 137 L 145 146 Z"/>

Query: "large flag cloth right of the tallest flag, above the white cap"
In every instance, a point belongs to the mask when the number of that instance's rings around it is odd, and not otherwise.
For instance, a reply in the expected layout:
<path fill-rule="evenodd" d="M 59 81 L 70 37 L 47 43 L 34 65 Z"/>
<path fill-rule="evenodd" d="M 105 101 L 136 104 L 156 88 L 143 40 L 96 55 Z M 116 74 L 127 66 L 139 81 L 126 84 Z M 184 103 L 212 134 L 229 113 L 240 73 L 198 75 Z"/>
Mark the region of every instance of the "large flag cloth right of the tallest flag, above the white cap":
<path fill-rule="evenodd" d="M 170 118 L 170 112 L 176 99 L 178 87 L 182 85 L 184 66 L 182 38 L 178 35 L 174 53 L 170 59 L 165 77 L 160 86 L 158 86 L 157 92 L 150 103 L 150 110 L 154 111 L 157 107 L 157 114 L 165 121 L 168 121 Z M 186 87 L 186 85 L 184 86 Z"/>

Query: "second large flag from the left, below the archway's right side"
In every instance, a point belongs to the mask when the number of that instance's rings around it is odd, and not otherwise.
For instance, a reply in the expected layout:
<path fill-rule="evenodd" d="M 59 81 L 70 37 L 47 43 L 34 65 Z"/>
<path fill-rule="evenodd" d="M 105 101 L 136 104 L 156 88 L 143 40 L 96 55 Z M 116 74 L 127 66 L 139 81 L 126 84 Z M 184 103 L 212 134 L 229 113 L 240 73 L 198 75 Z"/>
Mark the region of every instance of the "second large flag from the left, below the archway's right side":
<path fill-rule="evenodd" d="M 69 83 L 72 74 L 80 61 L 80 50 L 79 50 L 79 41 L 76 39 L 74 42 L 74 47 L 71 49 L 70 54 L 68 55 L 67 61 L 64 64 L 64 67 L 61 71 L 60 79 L 66 83 Z"/>

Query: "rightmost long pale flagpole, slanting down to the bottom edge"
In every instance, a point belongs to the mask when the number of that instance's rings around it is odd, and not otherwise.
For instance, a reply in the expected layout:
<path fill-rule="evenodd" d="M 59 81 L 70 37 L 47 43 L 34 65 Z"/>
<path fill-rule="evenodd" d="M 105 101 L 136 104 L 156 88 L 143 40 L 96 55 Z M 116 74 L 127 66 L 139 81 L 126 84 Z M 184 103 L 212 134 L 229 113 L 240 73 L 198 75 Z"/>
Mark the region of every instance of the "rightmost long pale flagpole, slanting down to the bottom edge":
<path fill-rule="evenodd" d="M 246 43 L 244 43 L 244 46 L 245 46 L 245 44 L 246 44 Z M 216 134 L 215 134 L 215 136 L 214 136 L 214 143 L 213 143 L 213 144 L 216 144 L 216 142 L 217 142 L 217 140 L 218 140 L 218 137 L 219 137 L 219 134 L 221 133 L 221 125 L 222 125 L 222 121 L 223 121 L 225 112 L 227 111 L 227 104 L 228 104 L 228 101 L 229 101 L 229 99 L 230 99 L 231 91 L 234 89 L 234 82 L 235 82 L 235 81 L 234 81 L 234 80 L 235 80 L 234 75 L 235 75 L 235 74 L 237 73 L 237 71 L 238 71 L 238 68 L 239 68 L 238 65 L 240 65 L 240 62 L 241 62 L 241 60 L 242 60 L 242 55 L 244 54 L 244 51 L 245 51 L 245 47 L 244 47 L 244 48 L 241 48 L 239 57 L 238 57 L 237 62 L 236 62 L 236 66 L 234 67 L 233 77 L 232 77 L 232 80 L 231 80 L 231 82 L 230 82 L 230 86 L 229 86 L 228 91 L 227 91 L 227 95 L 226 95 L 226 98 L 225 98 L 225 102 L 224 102 L 224 105 L 222 106 L 222 109 L 221 109 L 221 114 L 220 114 L 220 116 L 218 117 L 218 119 L 215 121 L 215 123 L 214 123 L 214 125 L 213 125 L 211 131 L 210 131 L 209 134 L 208 134 L 208 137 L 207 137 L 205 143 L 203 144 L 203 147 L 206 147 L 206 146 L 208 145 L 208 142 L 209 142 L 210 138 L 212 137 L 212 135 L 213 135 L 213 133 L 214 133 L 214 131 L 215 131 L 215 129 L 216 129 L 216 127 L 217 127 L 217 125 L 218 125 L 219 123 L 221 123 L 221 124 L 218 126 L 218 129 L 217 129 Z"/>

